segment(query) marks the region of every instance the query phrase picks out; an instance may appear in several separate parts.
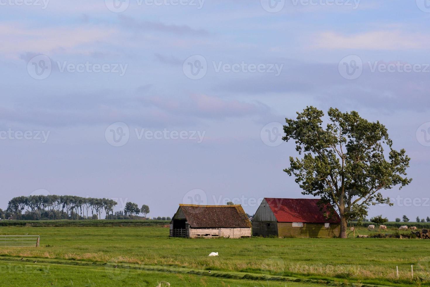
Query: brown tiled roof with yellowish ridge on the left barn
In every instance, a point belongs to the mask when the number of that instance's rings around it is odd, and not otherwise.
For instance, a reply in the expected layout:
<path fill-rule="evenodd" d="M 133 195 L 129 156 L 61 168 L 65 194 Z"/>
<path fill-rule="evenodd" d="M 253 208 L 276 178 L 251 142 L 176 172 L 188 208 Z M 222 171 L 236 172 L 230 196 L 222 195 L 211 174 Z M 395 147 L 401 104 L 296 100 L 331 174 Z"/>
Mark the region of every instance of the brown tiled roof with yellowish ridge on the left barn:
<path fill-rule="evenodd" d="M 240 204 L 179 206 L 192 228 L 251 228 L 251 222 Z"/>

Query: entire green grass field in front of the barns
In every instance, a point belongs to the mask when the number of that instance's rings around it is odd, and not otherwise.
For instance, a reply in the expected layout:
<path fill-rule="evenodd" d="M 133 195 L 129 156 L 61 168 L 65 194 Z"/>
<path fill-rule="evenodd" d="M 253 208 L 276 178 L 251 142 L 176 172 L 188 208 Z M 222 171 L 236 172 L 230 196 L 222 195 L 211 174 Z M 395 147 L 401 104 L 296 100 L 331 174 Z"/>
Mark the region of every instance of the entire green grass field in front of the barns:
<path fill-rule="evenodd" d="M 40 247 L 0 246 L 0 273 L 7 275 L 0 286 L 430 286 L 428 240 L 183 239 L 161 227 L 0 227 L 0 235 L 26 233 L 40 235 Z"/>

